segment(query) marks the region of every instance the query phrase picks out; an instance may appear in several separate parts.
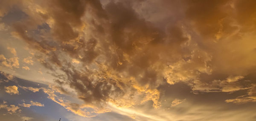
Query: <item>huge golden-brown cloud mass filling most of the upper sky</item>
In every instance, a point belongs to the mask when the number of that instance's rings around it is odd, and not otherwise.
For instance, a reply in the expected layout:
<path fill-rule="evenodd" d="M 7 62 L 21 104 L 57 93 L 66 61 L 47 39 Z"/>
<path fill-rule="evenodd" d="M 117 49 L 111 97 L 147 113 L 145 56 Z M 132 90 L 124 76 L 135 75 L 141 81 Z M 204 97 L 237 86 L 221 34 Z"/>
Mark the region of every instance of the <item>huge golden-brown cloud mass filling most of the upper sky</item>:
<path fill-rule="evenodd" d="M 78 115 L 93 116 L 86 108 L 106 112 L 109 103 L 152 101 L 159 108 L 164 93 L 158 87 L 166 82 L 183 82 L 194 93 L 249 91 L 255 84 L 248 76 L 256 67 L 251 0 L 39 1 L 3 0 L 26 14 L 13 22 L 12 35 L 35 52 L 32 58 L 58 80 L 55 87 L 71 88 L 86 105 L 55 95 L 67 88 L 24 89 L 43 90 Z M 1 9 L 8 14 L 9 8 Z M 0 60 L 19 66 L 17 57 Z"/>

